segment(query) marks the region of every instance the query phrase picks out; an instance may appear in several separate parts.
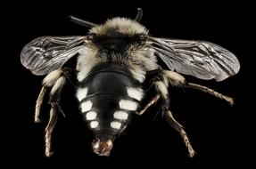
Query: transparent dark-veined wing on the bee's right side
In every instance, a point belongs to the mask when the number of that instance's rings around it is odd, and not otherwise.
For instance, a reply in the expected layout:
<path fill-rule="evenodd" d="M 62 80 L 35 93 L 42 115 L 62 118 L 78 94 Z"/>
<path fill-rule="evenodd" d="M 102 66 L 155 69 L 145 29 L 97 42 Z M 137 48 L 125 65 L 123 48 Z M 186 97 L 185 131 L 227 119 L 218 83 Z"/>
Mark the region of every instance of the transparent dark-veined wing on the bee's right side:
<path fill-rule="evenodd" d="M 217 44 L 155 37 L 150 41 L 155 54 L 169 69 L 182 74 L 222 81 L 240 68 L 235 55 Z"/>

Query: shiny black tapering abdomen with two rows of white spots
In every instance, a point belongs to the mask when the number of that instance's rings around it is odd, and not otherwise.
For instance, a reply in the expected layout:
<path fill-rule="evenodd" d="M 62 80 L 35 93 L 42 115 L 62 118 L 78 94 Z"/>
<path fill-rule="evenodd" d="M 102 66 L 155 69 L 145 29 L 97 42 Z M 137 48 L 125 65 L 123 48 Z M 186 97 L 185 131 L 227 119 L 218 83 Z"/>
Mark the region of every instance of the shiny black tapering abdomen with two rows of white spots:
<path fill-rule="evenodd" d="M 81 113 L 95 134 L 119 134 L 139 109 L 143 90 L 128 68 L 115 63 L 96 66 L 80 82 L 78 93 Z"/>

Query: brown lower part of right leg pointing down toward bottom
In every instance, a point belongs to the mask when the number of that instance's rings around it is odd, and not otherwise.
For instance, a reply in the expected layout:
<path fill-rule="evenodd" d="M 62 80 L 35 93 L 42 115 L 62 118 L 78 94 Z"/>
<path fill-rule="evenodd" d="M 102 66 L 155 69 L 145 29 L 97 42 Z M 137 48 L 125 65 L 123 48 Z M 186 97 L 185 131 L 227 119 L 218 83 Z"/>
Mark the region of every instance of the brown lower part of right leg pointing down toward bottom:
<path fill-rule="evenodd" d="M 178 131 L 178 133 L 180 133 L 181 137 L 183 138 L 183 141 L 186 144 L 186 148 L 188 149 L 189 157 L 194 157 L 195 152 L 191 146 L 185 130 L 183 129 L 184 127 L 176 121 L 169 109 L 165 108 L 164 113 L 166 115 L 167 121 L 169 122 L 169 125 L 171 125 L 176 131 Z"/>

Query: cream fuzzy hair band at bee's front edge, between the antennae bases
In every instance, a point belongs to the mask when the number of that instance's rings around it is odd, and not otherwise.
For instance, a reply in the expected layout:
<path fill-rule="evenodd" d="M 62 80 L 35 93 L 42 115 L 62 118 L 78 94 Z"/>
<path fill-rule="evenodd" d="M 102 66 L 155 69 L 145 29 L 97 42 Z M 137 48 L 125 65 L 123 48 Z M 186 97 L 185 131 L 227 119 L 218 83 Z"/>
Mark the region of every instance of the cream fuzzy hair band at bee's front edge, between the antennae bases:
<path fill-rule="evenodd" d="M 103 36 L 108 34 L 108 32 L 112 29 L 128 36 L 133 36 L 136 34 L 148 34 L 148 30 L 144 26 L 139 24 L 136 20 L 129 20 L 119 17 L 107 20 L 104 24 L 91 28 L 89 32 L 91 34 Z"/>

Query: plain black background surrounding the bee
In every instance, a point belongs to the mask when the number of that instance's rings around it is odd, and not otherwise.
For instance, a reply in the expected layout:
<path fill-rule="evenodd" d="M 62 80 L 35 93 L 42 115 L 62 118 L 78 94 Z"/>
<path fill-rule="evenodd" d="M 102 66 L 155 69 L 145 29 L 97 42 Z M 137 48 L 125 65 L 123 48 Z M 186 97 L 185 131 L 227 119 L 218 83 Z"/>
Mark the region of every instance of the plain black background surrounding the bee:
<path fill-rule="evenodd" d="M 13 7 L 15 6 L 15 7 Z M 171 110 L 178 121 L 186 127 L 197 154 L 187 156 L 179 134 L 175 132 L 154 109 L 133 123 L 114 142 L 110 157 L 98 157 L 91 151 L 93 135 L 81 123 L 74 91 L 67 86 L 62 95 L 62 109 L 66 118 L 60 116 L 54 130 L 54 157 L 44 156 L 44 127 L 48 119 L 49 105 L 45 100 L 42 109 L 43 123 L 33 123 L 35 101 L 43 76 L 33 76 L 20 62 L 22 47 L 37 36 L 86 35 L 87 28 L 67 20 L 67 16 L 95 23 L 103 23 L 112 17 L 134 18 L 136 8 L 142 7 L 145 15 L 141 23 L 149 28 L 152 36 L 196 39 L 219 44 L 237 55 L 241 62 L 239 74 L 223 82 L 203 81 L 191 76 L 186 78 L 207 85 L 220 93 L 235 98 L 235 105 L 219 101 L 211 95 L 182 88 L 170 89 Z M 4 131 L 4 157 L 8 165 L 26 166 L 81 166 L 121 167 L 145 166 L 203 166 L 248 165 L 252 158 L 250 139 L 252 124 L 247 121 L 249 100 L 245 88 L 253 96 L 250 83 L 253 70 L 249 62 L 253 58 L 252 11 L 250 4 L 220 2 L 165 2 L 138 3 L 118 1 L 33 2 L 9 3 L 2 14 L 4 24 L 4 61 L 2 74 L 6 118 L 2 118 Z M 255 20 L 254 20 L 255 21 Z M 6 45 L 7 44 L 7 45 Z M 6 65 L 5 65 L 6 64 Z M 72 65 L 72 63 L 70 63 Z M 5 91 L 4 91 L 5 92 Z M 255 111 L 255 110 L 254 110 Z M 6 119 L 6 120 L 5 120 Z M 37 165 L 33 165 L 37 163 Z"/>

